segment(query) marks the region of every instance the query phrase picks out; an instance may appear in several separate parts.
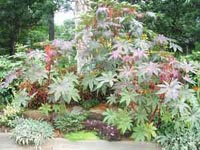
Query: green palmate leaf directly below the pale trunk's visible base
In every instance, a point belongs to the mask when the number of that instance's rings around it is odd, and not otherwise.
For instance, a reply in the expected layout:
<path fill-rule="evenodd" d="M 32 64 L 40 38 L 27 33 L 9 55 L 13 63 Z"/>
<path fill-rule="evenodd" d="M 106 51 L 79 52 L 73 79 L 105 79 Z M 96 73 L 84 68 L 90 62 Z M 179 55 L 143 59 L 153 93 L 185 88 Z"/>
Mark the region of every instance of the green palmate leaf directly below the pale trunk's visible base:
<path fill-rule="evenodd" d="M 86 74 L 82 80 L 82 84 L 83 84 L 83 88 L 84 90 L 89 88 L 90 91 L 94 90 L 94 86 L 97 84 L 97 80 L 96 80 L 96 76 L 95 74 Z"/>

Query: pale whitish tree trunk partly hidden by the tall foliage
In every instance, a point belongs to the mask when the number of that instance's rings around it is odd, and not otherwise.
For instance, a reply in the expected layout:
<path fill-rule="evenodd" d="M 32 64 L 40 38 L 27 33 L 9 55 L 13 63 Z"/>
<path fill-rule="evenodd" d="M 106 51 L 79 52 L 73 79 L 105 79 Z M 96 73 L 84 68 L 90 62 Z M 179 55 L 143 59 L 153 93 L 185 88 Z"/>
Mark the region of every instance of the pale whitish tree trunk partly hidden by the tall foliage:
<path fill-rule="evenodd" d="M 75 27 L 76 29 L 78 28 L 79 24 L 79 17 L 83 15 L 85 12 L 89 10 L 89 2 L 88 0 L 75 0 L 75 9 L 74 9 L 74 14 L 75 14 Z M 83 39 L 84 40 L 84 39 Z M 84 48 L 84 41 L 79 40 L 77 41 L 77 72 L 81 73 L 81 69 L 86 63 L 86 58 L 84 57 L 85 54 L 85 48 Z"/>

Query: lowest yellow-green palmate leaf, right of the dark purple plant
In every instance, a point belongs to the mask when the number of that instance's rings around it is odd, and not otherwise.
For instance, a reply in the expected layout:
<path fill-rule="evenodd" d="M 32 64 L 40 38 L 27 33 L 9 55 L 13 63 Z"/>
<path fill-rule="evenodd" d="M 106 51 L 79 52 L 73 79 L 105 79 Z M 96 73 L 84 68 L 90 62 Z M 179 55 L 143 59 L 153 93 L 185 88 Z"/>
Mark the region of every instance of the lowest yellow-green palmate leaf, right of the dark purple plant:
<path fill-rule="evenodd" d="M 156 137 L 156 130 L 153 123 L 141 124 L 133 128 L 132 138 L 135 141 L 150 141 L 152 137 Z"/>

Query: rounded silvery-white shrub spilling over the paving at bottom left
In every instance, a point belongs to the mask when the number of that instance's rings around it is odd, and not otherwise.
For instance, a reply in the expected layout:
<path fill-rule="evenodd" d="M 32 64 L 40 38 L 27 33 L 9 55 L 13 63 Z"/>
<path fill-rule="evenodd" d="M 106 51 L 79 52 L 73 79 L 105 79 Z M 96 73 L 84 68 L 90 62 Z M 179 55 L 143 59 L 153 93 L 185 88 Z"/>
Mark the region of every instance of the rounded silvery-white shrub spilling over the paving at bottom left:
<path fill-rule="evenodd" d="M 11 138 L 20 145 L 34 144 L 39 148 L 46 140 L 53 137 L 53 128 L 47 122 L 22 119 L 12 130 Z"/>

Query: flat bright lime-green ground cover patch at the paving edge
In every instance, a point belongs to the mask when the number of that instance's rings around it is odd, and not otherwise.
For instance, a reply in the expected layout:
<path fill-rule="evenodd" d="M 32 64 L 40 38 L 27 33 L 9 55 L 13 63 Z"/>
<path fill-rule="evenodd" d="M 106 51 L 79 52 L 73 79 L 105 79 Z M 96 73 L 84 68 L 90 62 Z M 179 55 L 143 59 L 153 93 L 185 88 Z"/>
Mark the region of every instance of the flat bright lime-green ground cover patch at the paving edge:
<path fill-rule="evenodd" d="M 75 133 L 66 134 L 64 137 L 71 141 L 80 141 L 80 140 L 98 140 L 99 137 L 95 132 L 89 131 L 79 131 Z"/>

